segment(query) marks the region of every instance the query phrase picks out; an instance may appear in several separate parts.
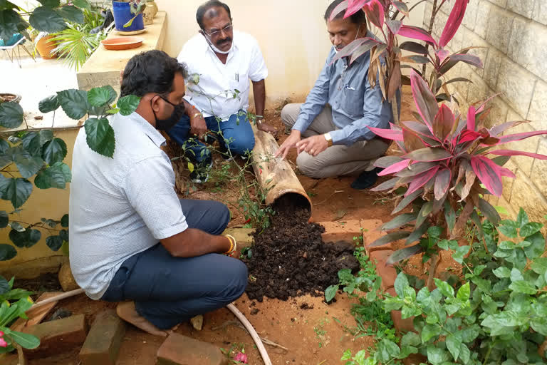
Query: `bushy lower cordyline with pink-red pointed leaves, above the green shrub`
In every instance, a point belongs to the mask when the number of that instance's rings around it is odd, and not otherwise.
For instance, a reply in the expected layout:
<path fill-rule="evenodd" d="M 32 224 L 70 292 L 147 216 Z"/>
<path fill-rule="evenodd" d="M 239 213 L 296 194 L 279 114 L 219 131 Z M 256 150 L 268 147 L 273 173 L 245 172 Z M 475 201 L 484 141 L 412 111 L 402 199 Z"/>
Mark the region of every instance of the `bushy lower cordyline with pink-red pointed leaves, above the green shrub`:
<path fill-rule="evenodd" d="M 453 240 L 459 238 L 471 218 L 481 232 L 476 209 L 497 225 L 499 214 L 483 197 L 501 195 L 502 176 L 515 178 L 503 165 L 515 155 L 547 159 L 546 155 L 498 148 L 504 143 L 547 134 L 547 130 L 504 135 L 509 128 L 527 121 L 484 128 L 481 119 L 486 115 L 487 101 L 477 108 L 470 106 L 467 115 L 459 115 L 456 103 L 452 103 L 452 110 L 444 103 L 439 106 L 420 75 L 412 71 L 410 80 L 418 121 L 405 121 L 400 126 L 391 124 L 391 129 L 370 128 L 376 135 L 394 140 L 400 149 L 400 156 L 386 156 L 376 161 L 375 166 L 384 169 L 378 175 L 394 177 L 373 190 L 394 191 L 406 187 L 400 192 L 401 200 L 392 214 L 401 212 L 411 203 L 413 208 L 412 212 L 383 225 L 382 230 L 396 231 L 370 245 L 376 247 L 406 240 L 408 247 L 394 252 L 388 264 L 422 252 L 424 245 L 416 242 L 431 226 L 444 228 L 442 238 Z M 414 230 L 400 230 L 412 222 Z"/>

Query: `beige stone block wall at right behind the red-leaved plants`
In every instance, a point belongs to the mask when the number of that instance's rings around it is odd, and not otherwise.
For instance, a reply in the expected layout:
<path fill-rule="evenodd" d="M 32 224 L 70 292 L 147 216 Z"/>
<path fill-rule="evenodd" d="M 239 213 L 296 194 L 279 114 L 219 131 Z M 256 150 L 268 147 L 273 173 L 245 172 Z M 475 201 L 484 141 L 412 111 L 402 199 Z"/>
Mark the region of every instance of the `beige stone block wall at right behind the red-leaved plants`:
<path fill-rule="evenodd" d="M 437 14 L 433 28 L 436 39 L 442 33 L 452 4 L 447 1 Z M 432 7 L 433 1 L 427 0 L 424 29 L 429 27 Z M 459 51 L 469 46 L 484 47 L 469 52 L 481 58 L 484 68 L 460 63 L 447 77 L 472 81 L 451 84 L 450 91 L 455 93 L 462 109 L 499 93 L 490 103 L 487 126 L 531 120 L 509 133 L 547 129 L 547 1 L 470 0 L 449 49 Z M 542 136 L 507 147 L 547 155 L 547 139 Z M 492 204 L 505 207 L 513 216 L 523 207 L 533 220 L 542 222 L 547 213 L 547 161 L 514 156 L 506 167 L 517 178 L 504 178 L 504 193 L 499 199 L 492 197 Z"/>

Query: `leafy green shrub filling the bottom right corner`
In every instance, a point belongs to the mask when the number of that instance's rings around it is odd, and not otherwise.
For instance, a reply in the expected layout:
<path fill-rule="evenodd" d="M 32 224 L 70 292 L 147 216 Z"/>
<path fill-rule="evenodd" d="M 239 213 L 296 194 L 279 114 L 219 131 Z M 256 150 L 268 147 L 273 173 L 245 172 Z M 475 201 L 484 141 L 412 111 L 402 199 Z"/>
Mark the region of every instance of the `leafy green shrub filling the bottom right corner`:
<path fill-rule="evenodd" d="M 436 289 L 415 292 L 404 273 L 395 281 L 396 297 L 385 310 L 414 317 L 416 332 L 402 336 L 400 346 L 377 348 L 367 364 L 390 364 L 421 354 L 428 364 L 544 364 L 538 347 L 547 336 L 547 258 L 543 225 L 516 220 L 501 222 L 499 235 L 485 233 L 484 245 L 468 247 L 464 277 L 457 289 L 435 279 Z M 486 255 L 485 255 L 486 254 Z M 395 345 L 395 346 L 394 346 Z M 422 361 L 425 362 L 425 361 Z"/>

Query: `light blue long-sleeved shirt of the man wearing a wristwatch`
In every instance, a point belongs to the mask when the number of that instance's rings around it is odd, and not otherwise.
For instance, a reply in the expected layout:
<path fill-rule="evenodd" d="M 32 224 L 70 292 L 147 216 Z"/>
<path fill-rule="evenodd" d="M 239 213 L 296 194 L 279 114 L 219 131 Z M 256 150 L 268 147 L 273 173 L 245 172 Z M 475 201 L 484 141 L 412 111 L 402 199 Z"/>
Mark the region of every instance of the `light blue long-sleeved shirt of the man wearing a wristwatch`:
<path fill-rule="evenodd" d="M 368 33 L 367 36 L 373 35 Z M 293 129 L 303 133 L 329 103 L 333 110 L 333 123 L 337 128 L 330 132 L 333 144 L 352 145 L 358 140 L 371 140 L 376 135 L 367 125 L 389 128 L 392 110 L 390 103 L 382 102 L 380 86 L 372 88 L 368 82 L 370 51 L 350 66 L 347 66 L 349 60 L 346 57 L 331 65 L 335 54 L 333 47 L 306 103 L 300 108 Z"/>

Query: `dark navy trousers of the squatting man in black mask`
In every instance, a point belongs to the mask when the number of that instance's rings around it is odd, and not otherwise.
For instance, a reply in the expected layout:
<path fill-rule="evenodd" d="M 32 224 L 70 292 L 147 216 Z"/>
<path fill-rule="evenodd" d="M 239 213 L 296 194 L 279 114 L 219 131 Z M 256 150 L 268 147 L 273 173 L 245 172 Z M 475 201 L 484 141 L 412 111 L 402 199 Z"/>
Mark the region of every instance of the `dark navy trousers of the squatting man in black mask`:
<path fill-rule="evenodd" d="M 190 228 L 219 235 L 230 220 L 220 202 L 180 202 Z M 239 259 L 218 254 L 173 257 L 158 243 L 125 260 L 101 299 L 134 300 L 142 317 L 159 329 L 170 329 L 234 302 L 246 285 L 247 267 Z"/>

